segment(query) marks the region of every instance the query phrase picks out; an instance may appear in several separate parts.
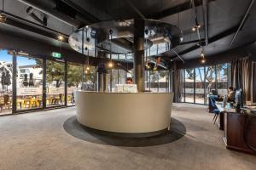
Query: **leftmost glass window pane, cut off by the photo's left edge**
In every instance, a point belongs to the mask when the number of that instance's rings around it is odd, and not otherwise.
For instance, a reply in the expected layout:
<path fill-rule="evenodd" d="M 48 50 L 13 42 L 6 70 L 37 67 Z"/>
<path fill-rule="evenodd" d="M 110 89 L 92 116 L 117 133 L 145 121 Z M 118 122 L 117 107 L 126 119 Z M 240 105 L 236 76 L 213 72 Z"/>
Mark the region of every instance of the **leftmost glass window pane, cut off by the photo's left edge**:
<path fill-rule="evenodd" d="M 12 112 L 12 59 L 7 50 L 0 50 L 0 115 Z"/>

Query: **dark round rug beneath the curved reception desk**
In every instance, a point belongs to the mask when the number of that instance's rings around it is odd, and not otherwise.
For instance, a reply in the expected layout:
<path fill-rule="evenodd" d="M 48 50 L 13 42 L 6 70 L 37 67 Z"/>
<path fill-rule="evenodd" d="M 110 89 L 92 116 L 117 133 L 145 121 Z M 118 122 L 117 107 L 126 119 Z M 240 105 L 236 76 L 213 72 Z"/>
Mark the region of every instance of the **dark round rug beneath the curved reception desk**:
<path fill-rule="evenodd" d="M 91 143 L 131 147 L 143 147 L 172 143 L 178 139 L 181 139 L 186 133 L 186 127 L 183 125 L 183 123 L 174 118 L 172 118 L 170 130 L 166 131 L 166 133 L 143 138 L 119 137 L 114 136 L 111 133 L 104 133 L 90 127 L 84 127 L 77 121 L 76 116 L 68 118 L 67 121 L 64 122 L 63 127 L 66 132 L 71 134 L 73 137 Z"/>

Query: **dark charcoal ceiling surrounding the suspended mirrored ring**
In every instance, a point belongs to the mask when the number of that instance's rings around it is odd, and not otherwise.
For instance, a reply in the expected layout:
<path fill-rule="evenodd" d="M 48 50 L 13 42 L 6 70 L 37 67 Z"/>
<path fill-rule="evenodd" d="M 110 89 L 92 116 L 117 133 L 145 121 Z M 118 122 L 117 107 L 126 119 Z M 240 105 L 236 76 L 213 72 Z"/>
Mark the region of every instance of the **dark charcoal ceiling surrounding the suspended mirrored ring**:
<path fill-rule="evenodd" d="M 183 43 L 174 50 L 184 60 L 189 60 L 199 58 L 201 53 L 197 45 L 198 34 L 191 30 L 195 26 L 196 16 L 201 25 L 201 44 L 205 45 L 204 40 L 208 39 L 208 45 L 204 46 L 206 55 L 219 54 L 256 41 L 256 3 L 253 3 L 244 25 L 230 46 L 251 0 L 208 0 L 207 12 L 204 11 L 202 1 L 194 1 L 194 10 L 191 0 L 5 0 L 3 11 L 9 14 L 9 21 L 0 24 L 0 31 L 12 29 L 29 37 L 37 37 L 40 41 L 57 44 L 56 35 L 61 33 L 68 37 L 81 26 L 103 20 L 145 17 L 178 26 L 183 31 Z M 0 2 L 2 9 L 3 0 Z M 34 8 L 32 13 L 40 20 L 47 18 L 47 26 L 26 12 L 29 7 L 27 2 L 44 7 L 44 10 Z M 58 16 L 63 20 L 58 19 Z M 24 31 L 27 29 L 30 30 Z M 69 48 L 67 45 L 64 47 Z M 166 61 L 178 59 L 172 51 L 163 54 L 162 58 Z"/>

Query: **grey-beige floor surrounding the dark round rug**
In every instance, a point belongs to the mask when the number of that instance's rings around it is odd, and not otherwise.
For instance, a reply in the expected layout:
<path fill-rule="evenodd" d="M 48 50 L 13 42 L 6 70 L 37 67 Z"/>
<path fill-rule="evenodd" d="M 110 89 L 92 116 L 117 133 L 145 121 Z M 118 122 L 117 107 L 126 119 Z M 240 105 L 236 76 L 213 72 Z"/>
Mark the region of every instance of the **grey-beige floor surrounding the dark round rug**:
<path fill-rule="evenodd" d="M 241 169 L 256 156 L 226 150 L 223 133 L 202 105 L 176 104 L 172 115 L 187 133 L 170 144 L 123 147 L 95 144 L 68 134 L 63 123 L 75 108 L 0 116 L 0 169 Z"/>

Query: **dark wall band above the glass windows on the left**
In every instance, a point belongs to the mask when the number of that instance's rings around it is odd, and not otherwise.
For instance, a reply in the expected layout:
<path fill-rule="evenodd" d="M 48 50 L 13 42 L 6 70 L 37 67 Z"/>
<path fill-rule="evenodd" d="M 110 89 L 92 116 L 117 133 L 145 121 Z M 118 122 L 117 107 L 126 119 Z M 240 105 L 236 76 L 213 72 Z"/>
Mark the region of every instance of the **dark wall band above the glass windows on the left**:
<path fill-rule="evenodd" d="M 17 50 L 23 51 L 29 54 L 32 57 L 41 58 L 41 59 L 54 59 L 50 57 L 52 52 L 59 52 L 63 56 L 63 59 L 70 61 L 85 64 L 87 62 L 87 56 L 83 54 L 79 54 L 74 51 L 72 48 L 68 47 L 68 44 L 63 44 L 61 47 L 61 42 L 54 45 L 53 42 L 42 42 L 39 41 L 35 37 L 30 37 L 25 34 L 19 34 L 12 31 L 5 31 L 0 29 L 0 48 L 8 49 L 8 50 Z M 109 59 L 104 59 L 100 57 L 90 57 L 90 65 L 97 65 L 100 61 L 105 63 L 108 62 Z M 113 63 L 115 63 L 113 61 Z M 127 63 L 119 61 L 121 65 L 127 65 Z M 122 69 L 122 67 L 116 68 Z M 132 63 L 129 64 L 129 69 L 132 68 Z"/>

